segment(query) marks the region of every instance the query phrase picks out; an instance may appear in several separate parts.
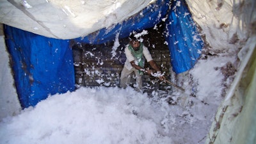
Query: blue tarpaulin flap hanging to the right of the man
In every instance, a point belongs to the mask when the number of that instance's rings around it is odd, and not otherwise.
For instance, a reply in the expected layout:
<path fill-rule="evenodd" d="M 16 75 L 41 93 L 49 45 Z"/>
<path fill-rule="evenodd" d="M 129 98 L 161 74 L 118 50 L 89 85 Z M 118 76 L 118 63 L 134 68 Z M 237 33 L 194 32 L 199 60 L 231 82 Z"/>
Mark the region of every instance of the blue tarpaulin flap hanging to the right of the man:
<path fill-rule="evenodd" d="M 173 71 L 175 73 L 188 71 L 195 66 L 204 43 L 184 0 L 173 1 L 166 28 Z"/>

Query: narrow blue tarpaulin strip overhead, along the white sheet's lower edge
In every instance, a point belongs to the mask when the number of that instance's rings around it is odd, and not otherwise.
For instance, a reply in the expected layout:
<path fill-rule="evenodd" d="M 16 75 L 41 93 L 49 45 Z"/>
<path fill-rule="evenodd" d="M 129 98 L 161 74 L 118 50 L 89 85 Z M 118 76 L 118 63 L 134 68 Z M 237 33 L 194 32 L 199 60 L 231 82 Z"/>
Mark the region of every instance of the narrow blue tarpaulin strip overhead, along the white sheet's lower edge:
<path fill-rule="evenodd" d="M 166 17 L 169 3 L 169 0 L 157 0 L 156 3 L 150 4 L 131 18 L 111 27 L 100 29 L 84 38 L 77 38 L 76 42 L 102 44 L 115 40 L 116 34 L 119 34 L 118 38 L 122 39 L 129 36 L 132 31 L 140 32 L 143 29 L 154 27 L 162 21 L 162 18 Z"/>

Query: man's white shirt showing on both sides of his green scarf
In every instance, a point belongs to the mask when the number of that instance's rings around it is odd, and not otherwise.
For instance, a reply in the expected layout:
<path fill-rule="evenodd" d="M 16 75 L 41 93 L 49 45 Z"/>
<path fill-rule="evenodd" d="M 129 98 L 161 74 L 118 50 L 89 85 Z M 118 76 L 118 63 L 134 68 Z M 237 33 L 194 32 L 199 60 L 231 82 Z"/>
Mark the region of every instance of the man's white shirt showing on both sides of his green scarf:
<path fill-rule="evenodd" d="M 127 45 L 124 49 L 124 52 L 125 52 L 125 56 L 126 56 L 126 61 L 125 61 L 125 68 L 127 68 L 128 70 L 131 70 L 133 67 L 131 65 L 131 61 L 134 61 L 135 60 L 135 57 L 132 55 L 131 51 L 129 50 L 129 45 Z M 149 61 L 152 61 L 152 56 L 150 54 L 150 52 L 148 51 L 148 48 L 145 47 L 143 45 L 143 55 L 144 57 L 147 59 L 147 62 Z"/>

